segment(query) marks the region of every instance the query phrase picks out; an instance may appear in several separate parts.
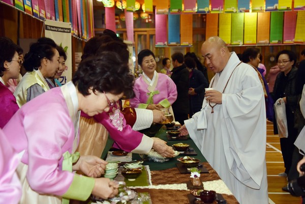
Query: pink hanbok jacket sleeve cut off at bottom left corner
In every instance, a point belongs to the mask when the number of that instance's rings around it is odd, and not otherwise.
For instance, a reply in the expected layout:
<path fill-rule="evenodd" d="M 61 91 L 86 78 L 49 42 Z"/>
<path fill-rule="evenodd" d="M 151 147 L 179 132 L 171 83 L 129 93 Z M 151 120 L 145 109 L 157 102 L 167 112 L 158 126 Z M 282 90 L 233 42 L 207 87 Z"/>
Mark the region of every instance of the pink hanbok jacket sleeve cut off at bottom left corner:
<path fill-rule="evenodd" d="M 21 185 L 15 172 L 20 159 L 0 129 L 0 204 L 17 204 Z"/>

